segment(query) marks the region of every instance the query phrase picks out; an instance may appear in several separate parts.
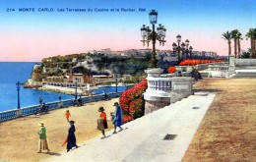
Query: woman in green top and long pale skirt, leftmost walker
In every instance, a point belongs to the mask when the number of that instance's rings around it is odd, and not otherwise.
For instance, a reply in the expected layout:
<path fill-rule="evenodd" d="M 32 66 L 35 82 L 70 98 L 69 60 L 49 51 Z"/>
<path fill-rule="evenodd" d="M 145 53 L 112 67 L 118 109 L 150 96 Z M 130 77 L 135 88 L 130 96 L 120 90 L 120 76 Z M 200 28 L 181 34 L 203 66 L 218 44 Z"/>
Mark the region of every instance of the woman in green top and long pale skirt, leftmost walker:
<path fill-rule="evenodd" d="M 47 153 L 48 153 L 50 149 L 47 141 L 46 128 L 44 127 L 44 122 L 40 122 L 39 126 L 40 126 L 40 130 L 38 132 L 38 135 L 39 135 L 38 153 L 40 153 L 41 150 L 47 150 Z"/>

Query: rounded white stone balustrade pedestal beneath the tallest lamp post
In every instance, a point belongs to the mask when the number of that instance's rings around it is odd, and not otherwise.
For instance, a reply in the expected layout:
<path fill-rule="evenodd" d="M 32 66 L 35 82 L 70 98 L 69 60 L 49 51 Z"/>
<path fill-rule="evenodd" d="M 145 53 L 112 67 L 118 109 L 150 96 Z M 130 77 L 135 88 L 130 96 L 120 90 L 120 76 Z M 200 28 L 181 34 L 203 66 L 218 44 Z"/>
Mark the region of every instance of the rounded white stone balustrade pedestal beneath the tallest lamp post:
<path fill-rule="evenodd" d="M 151 72 L 154 74 L 150 74 Z M 144 93 L 144 99 L 146 100 L 145 114 L 156 111 L 192 94 L 191 77 L 160 76 L 161 72 L 160 69 L 146 71 L 148 73 L 148 88 Z"/>

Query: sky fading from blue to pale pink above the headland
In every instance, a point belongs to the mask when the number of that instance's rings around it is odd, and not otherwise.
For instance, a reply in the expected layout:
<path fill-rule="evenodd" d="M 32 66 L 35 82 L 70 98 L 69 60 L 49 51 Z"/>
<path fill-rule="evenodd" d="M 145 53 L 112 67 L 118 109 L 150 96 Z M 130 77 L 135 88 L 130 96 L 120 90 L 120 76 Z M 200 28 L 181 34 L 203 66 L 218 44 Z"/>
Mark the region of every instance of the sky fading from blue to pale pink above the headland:
<path fill-rule="evenodd" d="M 151 10 L 158 11 L 158 24 L 167 29 L 166 43 L 157 42 L 157 49 L 170 50 L 180 34 L 194 50 L 226 56 L 222 34 L 227 30 L 238 29 L 241 49 L 250 47 L 244 35 L 256 27 L 255 6 L 255 0 L 1 0 L 0 61 L 148 48 L 141 42 L 140 28 L 152 27 Z"/>

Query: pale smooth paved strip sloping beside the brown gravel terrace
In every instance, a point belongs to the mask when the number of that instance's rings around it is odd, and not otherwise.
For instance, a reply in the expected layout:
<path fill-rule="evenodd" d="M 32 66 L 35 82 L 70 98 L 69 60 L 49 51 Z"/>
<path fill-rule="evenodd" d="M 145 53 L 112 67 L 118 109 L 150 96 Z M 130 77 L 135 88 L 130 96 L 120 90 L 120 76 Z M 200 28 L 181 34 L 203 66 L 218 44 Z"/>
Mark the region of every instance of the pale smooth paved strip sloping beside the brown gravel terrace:
<path fill-rule="evenodd" d="M 104 139 L 96 136 L 77 149 L 43 161 L 181 161 L 215 97 L 213 93 L 202 94 L 206 93 L 191 95 L 123 125 L 125 130 L 116 135 L 111 131 Z M 167 134 L 176 136 L 163 140 Z"/>

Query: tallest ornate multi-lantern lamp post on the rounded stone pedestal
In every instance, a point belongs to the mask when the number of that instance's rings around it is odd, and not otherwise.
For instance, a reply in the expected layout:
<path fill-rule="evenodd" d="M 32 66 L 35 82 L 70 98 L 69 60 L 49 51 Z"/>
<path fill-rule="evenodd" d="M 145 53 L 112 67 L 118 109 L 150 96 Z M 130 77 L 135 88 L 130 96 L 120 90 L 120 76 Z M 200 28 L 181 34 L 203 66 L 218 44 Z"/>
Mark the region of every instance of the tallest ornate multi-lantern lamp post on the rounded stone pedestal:
<path fill-rule="evenodd" d="M 157 27 L 158 32 L 156 32 L 155 25 L 158 23 L 158 12 L 156 10 L 152 10 L 149 16 L 150 22 L 152 24 L 152 29 L 150 27 L 146 27 L 145 25 L 141 27 L 141 34 L 143 38 L 143 40 L 141 41 L 143 42 L 143 45 L 145 45 L 145 42 L 147 42 L 148 46 L 150 41 L 152 41 L 153 48 L 152 57 L 150 61 L 150 68 L 157 68 L 158 61 L 156 59 L 156 41 L 159 40 L 160 45 L 164 45 L 164 42 L 166 42 L 166 40 L 164 40 L 166 28 L 160 24 L 159 27 Z"/>

